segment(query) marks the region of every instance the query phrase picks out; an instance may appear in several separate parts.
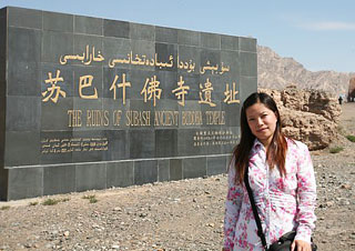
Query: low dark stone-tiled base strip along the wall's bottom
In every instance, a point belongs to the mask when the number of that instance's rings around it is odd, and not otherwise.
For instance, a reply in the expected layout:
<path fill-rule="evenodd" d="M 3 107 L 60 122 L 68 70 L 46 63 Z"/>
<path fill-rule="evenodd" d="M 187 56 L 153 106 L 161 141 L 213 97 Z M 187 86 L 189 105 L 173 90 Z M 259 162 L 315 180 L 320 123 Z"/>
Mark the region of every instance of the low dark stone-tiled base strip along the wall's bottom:
<path fill-rule="evenodd" d="M 226 171 L 230 154 L 75 164 L 27 165 L 1 170 L 1 200 L 19 200 L 87 190 L 122 188 L 215 175 Z"/>

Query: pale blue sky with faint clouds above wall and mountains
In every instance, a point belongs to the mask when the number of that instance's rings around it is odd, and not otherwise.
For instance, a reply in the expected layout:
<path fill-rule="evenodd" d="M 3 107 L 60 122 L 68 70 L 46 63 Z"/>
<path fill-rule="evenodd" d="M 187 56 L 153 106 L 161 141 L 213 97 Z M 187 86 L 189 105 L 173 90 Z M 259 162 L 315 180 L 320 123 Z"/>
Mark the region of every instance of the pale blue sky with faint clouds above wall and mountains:
<path fill-rule="evenodd" d="M 251 36 L 307 70 L 355 72 L 354 0 L 0 0 L 6 6 Z"/>

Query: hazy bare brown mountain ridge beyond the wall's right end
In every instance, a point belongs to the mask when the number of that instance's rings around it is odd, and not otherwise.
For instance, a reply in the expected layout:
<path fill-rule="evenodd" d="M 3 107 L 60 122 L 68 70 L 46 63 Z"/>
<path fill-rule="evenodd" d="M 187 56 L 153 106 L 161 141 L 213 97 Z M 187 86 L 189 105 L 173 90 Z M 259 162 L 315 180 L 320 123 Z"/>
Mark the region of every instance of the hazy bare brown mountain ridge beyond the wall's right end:
<path fill-rule="evenodd" d="M 354 69 L 355 70 L 355 69 Z M 293 58 L 282 58 L 268 47 L 257 46 L 257 82 L 260 88 L 316 89 L 334 94 L 347 94 L 355 72 L 308 71 Z"/>

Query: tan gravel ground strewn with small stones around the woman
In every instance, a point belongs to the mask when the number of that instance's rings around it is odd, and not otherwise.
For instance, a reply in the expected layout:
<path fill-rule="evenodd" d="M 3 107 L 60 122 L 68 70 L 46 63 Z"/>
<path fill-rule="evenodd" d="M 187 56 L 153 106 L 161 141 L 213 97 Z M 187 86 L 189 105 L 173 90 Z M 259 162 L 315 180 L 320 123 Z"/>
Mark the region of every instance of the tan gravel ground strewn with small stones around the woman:
<path fill-rule="evenodd" d="M 354 133 L 354 104 L 343 129 Z M 321 251 L 355 250 L 355 143 L 312 152 Z M 226 175 L 0 202 L 0 250 L 221 250 Z M 58 202 L 44 205 L 44 202 Z M 336 248 L 334 248 L 336 247 Z"/>

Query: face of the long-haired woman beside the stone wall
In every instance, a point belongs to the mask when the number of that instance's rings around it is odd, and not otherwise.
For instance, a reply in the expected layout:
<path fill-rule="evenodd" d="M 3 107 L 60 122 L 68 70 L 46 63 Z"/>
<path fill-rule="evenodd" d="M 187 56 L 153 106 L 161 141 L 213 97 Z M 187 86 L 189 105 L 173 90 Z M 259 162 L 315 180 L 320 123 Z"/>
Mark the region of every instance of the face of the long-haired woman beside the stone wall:
<path fill-rule="evenodd" d="M 275 112 L 263 103 L 255 103 L 246 109 L 246 120 L 252 133 L 265 147 L 268 147 L 273 139 L 277 118 Z"/>

